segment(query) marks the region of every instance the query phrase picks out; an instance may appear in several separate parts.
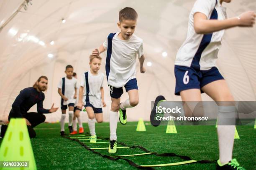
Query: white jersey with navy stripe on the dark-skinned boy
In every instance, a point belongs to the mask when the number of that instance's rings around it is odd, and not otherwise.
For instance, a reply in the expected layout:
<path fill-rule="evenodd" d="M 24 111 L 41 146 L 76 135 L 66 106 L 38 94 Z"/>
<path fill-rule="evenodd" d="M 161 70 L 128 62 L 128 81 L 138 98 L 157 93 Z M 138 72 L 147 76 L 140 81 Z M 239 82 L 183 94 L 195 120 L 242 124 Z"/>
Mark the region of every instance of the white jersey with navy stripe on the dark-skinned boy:
<path fill-rule="evenodd" d="M 65 82 L 63 85 L 62 82 Z M 72 79 L 68 79 L 67 77 L 61 78 L 58 84 L 58 88 L 61 89 L 62 94 L 68 98 L 67 101 L 63 100 L 62 105 L 68 105 L 69 103 L 75 103 L 76 99 L 74 99 L 75 88 L 77 88 L 77 79 L 72 77 Z M 62 102 L 62 100 L 61 100 Z"/>

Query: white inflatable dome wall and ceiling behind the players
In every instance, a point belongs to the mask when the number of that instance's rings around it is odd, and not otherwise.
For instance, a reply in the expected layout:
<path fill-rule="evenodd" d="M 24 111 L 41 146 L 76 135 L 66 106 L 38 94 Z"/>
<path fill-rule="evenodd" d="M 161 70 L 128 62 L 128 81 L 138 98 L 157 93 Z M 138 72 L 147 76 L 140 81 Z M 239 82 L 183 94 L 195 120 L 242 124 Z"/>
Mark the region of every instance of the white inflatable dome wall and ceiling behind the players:
<path fill-rule="evenodd" d="M 0 1 L 0 120 L 6 120 L 20 90 L 31 87 L 41 75 L 49 79 L 44 107 L 60 106 L 57 84 L 66 65 L 77 72 L 78 82 L 89 70 L 89 55 L 110 32 L 117 32 L 118 12 L 133 7 L 138 12 L 135 34 L 143 39 L 146 73 L 139 72 L 139 104 L 127 111 L 128 120 L 149 120 L 151 101 L 159 94 L 169 101 L 174 95 L 174 60 L 187 34 L 188 15 L 195 0 L 24 0 Z M 229 17 L 256 11 L 255 0 L 233 0 L 226 4 Z M 16 12 L 18 10 L 18 12 Z M 10 19 L 10 20 L 9 20 Z M 62 20 L 66 22 L 63 23 Z M 54 45 L 50 42 L 54 41 Z M 50 55 L 49 55 L 50 54 Z M 105 74 L 102 55 L 101 72 Z M 226 30 L 217 66 L 237 101 L 256 100 L 256 28 Z M 147 65 L 148 63 L 148 65 Z M 108 121 L 110 95 L 104 80 L 104 121 Z M 124 94 L 121 100 L 125 100 Z M 205 101 L 211 101 L 202 95 Z M 36 106 L 31 111 L 36 110 Z M 83 121 L 87 114 L 82 113 Z M 46 114 L 46 121 L 60 119 L 61 110 Z"/>

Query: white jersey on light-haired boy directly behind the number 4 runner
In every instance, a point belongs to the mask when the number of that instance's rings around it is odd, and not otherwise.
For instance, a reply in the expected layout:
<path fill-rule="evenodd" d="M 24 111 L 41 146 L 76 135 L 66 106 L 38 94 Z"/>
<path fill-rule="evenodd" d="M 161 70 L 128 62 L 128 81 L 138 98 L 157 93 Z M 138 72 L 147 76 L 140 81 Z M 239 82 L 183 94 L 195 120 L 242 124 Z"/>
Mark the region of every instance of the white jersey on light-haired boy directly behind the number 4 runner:
<path fill-rule="evenodd" d="M 81 86 L 84 87 L 83 102 L 93 105 L 93 107 L 101 108 L 101 93 L 100 87 L 103 87 L 104 74 L 98 72 L 97 75 L 92 75 L 89 71 L 82 75 Z"/>

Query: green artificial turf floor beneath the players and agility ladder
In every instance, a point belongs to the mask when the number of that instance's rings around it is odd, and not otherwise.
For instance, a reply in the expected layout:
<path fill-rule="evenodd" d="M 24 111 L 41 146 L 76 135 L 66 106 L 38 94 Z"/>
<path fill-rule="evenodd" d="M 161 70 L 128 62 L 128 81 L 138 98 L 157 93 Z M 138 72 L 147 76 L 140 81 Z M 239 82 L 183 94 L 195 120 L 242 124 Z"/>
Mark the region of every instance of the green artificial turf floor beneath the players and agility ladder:
<path fill-rule="evenodd" d="M 166 134 L 166 126 L 153 127 L 146 122 L 146 132 L 136 132 L 137 122 L 126 125 L 118 123 L 118 142 L 128 146 L 140 145 L 156 153 L 175 153 L 189 156 L 192 160 L 217 160 L 218 138 L 215 126 L 176 126 L 177 134 Z M 84 130 L 89 132 L 87 123 Z M 235 139 L 233 158 L 248 170 L 256 169 L 256 129 L 253 126 L 236 126 L 240 139 Z M 78 170 L 78 169 L 136 169 L 125 160 L 108 160 L 86 150 L 78 142 L 60 136 L 60 124 L 41 124 L 36 128 L 37 136 L 31 144 L 38 170 Z M 68 132 L 67 124 L 65 130 Z M 109 123 L 96 123 L 96 133 L 101 138 L 109 137 Z M 1 142 L 2 140 L 0 140 Z M 106 140 L 98 140 L 103 142 Z M 89 141 L 82 141 L 89 142 Z M 90 148 L 105 148 L 108 143 L 86 144 Z M 118 147 L 121 145 L 118 145 Z M 108 150 L 96 150 L 103 155 L 110 155 Z M 145 153 L 139 148 L 118 149 L 112 155 L 128 155 Z M 154 165 L 182 162 L 179 157 L 160 157 L 141 155 L 125 157 L 137 165 Z M 214 170 L 216 163 L 190 163 L 172 167 L 156 167 L 154 169 L 174 170 Z"/>

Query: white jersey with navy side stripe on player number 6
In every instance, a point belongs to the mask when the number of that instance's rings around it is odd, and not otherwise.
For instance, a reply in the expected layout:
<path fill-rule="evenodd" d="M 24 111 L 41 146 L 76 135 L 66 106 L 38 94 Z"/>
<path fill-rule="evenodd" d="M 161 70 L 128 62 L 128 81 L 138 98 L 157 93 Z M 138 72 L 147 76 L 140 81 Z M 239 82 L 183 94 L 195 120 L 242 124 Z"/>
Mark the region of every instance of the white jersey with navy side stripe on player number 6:
<path fill-rule="evenodd" d="M 210 34 L 197 34 L 194 29 L 194 14 L 203 13 L 208 19 L 224 20 L 227 18 L 226 8 L 220 0 L 197 0 L 189 14 L 187 39 L 179 48 L 175 65 L 209 70 L 215 66 L 224 30 Z"/>

